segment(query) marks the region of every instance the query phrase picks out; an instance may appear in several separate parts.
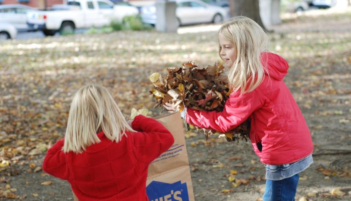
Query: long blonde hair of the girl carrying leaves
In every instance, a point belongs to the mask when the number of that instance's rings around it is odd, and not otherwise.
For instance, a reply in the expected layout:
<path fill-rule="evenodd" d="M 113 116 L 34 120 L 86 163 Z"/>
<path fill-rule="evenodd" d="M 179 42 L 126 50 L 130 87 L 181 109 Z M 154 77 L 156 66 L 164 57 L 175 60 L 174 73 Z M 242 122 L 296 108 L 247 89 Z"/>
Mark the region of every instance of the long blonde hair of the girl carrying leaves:
<path fill-rule="evenodd" d="M 233 41 L 237 50 L 237 59 L 228 71 L 229 86 L 233 91 L 240 89 L 241 94 L 253 91 L 264 78 L 265 65 L 261 64 L 260 57 L 268 45 L 267 34 L 255 21 L 244 16 L 229 19 L 218 34 Z M 219 53 L 221 50 L 220 46 Z"/>

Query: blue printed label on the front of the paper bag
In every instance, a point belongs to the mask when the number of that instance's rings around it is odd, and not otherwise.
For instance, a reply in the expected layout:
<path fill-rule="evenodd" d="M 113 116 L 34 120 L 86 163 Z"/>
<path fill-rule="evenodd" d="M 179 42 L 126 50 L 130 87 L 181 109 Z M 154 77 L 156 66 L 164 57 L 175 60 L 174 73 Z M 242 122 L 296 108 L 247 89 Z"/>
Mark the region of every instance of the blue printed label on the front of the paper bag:
<path fill-rule="evenodd" d="M 151 181 L 146 187 L 146 194 L 150 201 L 189 201 L 187 183 L 181 181 L 174 183 Z"/>

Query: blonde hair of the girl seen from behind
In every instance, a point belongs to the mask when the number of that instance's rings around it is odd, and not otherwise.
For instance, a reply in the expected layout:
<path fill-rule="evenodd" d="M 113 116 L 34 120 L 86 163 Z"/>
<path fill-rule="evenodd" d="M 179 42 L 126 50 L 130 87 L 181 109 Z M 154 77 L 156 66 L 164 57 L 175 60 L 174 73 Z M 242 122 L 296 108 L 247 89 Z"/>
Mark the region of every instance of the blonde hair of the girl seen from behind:
<path fill-rule="evenodd" d="M 107 89 L 90 84 L 80 88 L 73 97 L 68 117 L 64 152 L 81 153 L 100 139 L 103 131 L 111 141 L 121 140 L 125 131 L 134 131 Z"/>

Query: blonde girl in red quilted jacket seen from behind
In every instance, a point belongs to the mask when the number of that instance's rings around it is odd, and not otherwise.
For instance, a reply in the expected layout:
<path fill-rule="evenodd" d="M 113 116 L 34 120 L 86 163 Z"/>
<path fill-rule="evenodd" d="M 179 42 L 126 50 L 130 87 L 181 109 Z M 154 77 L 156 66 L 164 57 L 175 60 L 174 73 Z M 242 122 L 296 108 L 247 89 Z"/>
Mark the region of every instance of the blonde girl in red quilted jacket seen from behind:
<path fill-rule="evenodd" d="M 129 125 L 104 87 L 88 85 L 74 95 L 65 138 L 43 169 L 68 180 L 82 201 L 148 200 L 148 165 L 173 142 L 156 120 L 139 115 Z"/>

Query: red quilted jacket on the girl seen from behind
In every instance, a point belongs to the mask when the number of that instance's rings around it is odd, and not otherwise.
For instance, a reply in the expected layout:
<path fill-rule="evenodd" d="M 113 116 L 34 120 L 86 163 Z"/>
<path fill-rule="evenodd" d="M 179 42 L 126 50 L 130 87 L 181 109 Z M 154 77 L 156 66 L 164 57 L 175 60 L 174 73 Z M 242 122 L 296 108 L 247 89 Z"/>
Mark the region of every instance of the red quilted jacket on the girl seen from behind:
<path fill-rule="evenodd" d="M 101 142 L 80 154 L 64 153 L 64 141 L 58 141 L 44 159 L 45 172 L 68 180 L 80 201 L 144 201 L 147 168 L 151 161 L 174 142 L 159 122 L 136 116 L 132 128 L 118 143 L 98 133 Z"/>

